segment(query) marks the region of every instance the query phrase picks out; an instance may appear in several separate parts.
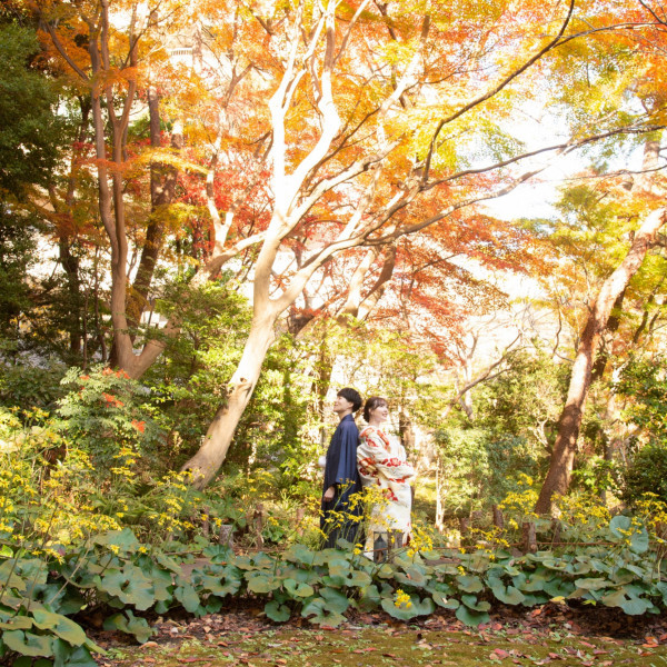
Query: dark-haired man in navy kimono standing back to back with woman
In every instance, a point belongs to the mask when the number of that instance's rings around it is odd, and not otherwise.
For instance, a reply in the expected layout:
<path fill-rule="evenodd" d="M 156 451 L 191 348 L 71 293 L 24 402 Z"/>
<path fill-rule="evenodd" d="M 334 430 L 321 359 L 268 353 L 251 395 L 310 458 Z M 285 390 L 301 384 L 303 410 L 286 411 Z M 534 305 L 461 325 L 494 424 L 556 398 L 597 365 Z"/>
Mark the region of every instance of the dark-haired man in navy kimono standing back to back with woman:
<path fill-rule="evenodd" d="M 320 528 L 326 534 L 325 548 L 336 548 L 339 537 L 358 541 L 360 522 L 355 516 L 362 514 L 361 504 L 350 507 L 350 496 L 361 491 L 357 470 L 359 430 L 352 414 L 361 407 L 361 397 L 346 387 L 336 395 L 334 411 L 340 422 L 334 432 L 325 464 L 325 484 L 321 502 Z"/>

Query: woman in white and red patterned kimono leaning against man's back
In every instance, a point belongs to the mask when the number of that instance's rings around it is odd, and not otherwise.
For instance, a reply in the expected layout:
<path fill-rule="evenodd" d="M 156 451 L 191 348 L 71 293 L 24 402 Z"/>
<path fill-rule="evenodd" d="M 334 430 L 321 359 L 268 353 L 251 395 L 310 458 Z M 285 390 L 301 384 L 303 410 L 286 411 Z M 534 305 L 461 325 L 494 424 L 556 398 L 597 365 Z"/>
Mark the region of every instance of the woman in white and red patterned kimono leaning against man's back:
<path fill-rule="evenodd" d="M 387 401 L 371 396 L 364 406 L 364 419 L 368 426 L 359 434 L 357 466 L 364 488 L 378 487 L 384 499 L 371 510 L 367 549 L 372 549 L 374 532 L 400 530 L 402 545 L 410 539 L 410 482 L 416 474 L 406 460 L 404 446 L 381 428 L 388 418 Z"/>

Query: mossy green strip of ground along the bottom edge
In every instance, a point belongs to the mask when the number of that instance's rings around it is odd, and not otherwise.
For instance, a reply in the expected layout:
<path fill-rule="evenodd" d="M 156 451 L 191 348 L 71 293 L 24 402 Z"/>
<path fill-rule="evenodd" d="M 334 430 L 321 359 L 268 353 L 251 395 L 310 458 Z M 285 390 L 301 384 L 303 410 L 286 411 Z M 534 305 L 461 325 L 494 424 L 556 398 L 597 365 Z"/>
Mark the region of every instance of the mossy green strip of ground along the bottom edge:
<path fill-rule="evenodd" d="M 253 667 L 336 667 L 392 665 L 431 667 L 451 665 L 667 665 L 667 647 L 647 648 L 611 638 L 587 638 L 530 633 L 429 631 L 376 626 L 335 631 L 279 628 L 262 633 L 232 633 L 188 639 L 181 644 L 148 646 L 131 657 L 116 656 L 106 665 L 130 667 L 140 653 L 146 663 L 177 667 L 191 663 L 206 667 L 231 664 Z"/>

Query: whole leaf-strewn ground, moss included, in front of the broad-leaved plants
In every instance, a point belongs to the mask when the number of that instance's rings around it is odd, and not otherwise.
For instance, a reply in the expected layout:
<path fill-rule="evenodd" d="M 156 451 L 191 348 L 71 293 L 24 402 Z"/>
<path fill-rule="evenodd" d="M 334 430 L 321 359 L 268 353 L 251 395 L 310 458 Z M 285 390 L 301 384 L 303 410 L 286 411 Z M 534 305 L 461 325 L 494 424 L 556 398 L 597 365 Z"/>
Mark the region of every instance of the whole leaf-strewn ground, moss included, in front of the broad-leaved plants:
<path fill-rule="evenodd" d="M 359 614 L 336 630 L 312 629 L 302 619 L 277 626 L 261 607 L 229 609 L 195 620 L 157 624 L 140 648 L 127 636 L 100 631 L 103 667 L 336 667 L 337 665 L 458 666 L 554 665 L 563 667 L 664 667 L 667 618 L 627 617 L 613 609 L 573 609 L 550 604 L 529 613 L 505 608 L 478 629 L 452 613 L 404 624 Z"/>

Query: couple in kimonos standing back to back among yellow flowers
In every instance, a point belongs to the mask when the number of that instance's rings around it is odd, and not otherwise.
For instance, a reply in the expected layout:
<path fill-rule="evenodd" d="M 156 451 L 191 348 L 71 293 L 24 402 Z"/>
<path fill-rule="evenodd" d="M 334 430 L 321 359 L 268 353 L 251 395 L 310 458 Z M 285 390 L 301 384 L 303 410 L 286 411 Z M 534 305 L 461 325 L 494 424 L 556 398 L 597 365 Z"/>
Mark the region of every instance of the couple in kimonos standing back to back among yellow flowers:
<path fill-rule="evenodd" d="M 359 496 L 351 496 L 369 487 L 378 488 L 382 500 L 371 509 L 366 549 L 372 549 L 377 532 L 400 531 L 402 544 L 410 538 L 415 468 L 407 462 L 402 445 L 382 428 L 389 418 L 387 401 L 379 396 L 366 401 L 364 419 L 368 426 L 361 432 L 354 418 L 360 407 L 357 390 L 348 387 L 336 395 L 334 411 L 340 422 L 327 450 L 321 501 L 325 547 L 335 548 L 339 537 L 351 542 L 358 539 L 364 505 Z"/>

